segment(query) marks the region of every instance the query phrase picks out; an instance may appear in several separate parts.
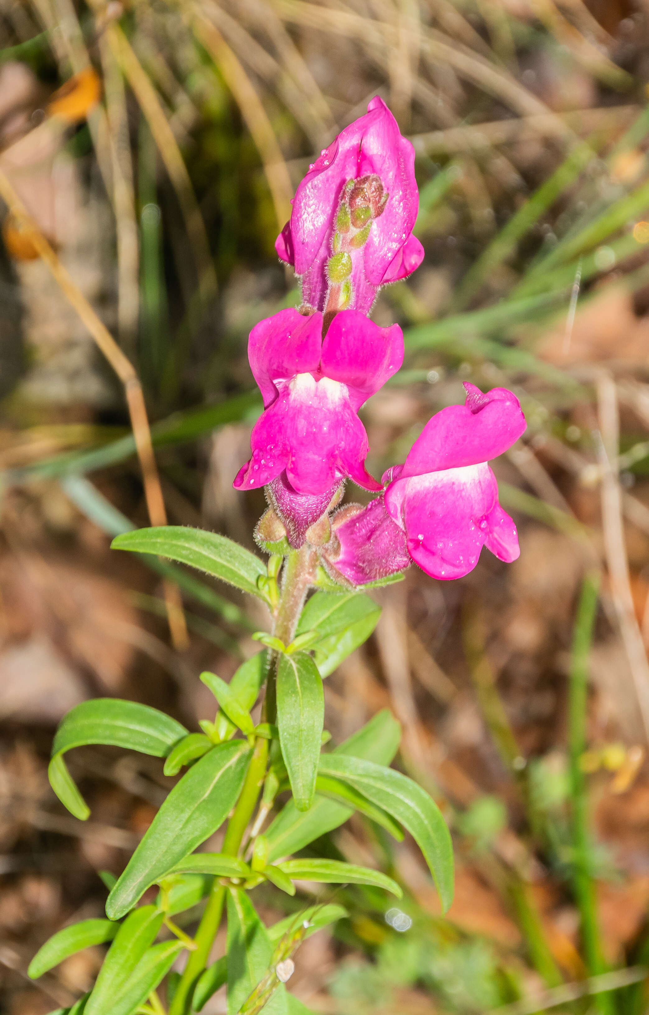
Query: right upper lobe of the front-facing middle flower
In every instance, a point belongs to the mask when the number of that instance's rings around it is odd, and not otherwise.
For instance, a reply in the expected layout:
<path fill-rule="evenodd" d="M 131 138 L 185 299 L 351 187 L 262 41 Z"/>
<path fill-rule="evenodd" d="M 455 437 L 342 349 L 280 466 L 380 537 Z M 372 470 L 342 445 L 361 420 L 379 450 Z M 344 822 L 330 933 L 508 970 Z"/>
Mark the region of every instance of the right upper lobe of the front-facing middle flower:
<path fill-rule="evenodd" d="M 322 342 L 322 374 L 345 384 L 358 410 L 404 361 L 404 335 L 399 325 L 379 328 L 358 311 L 342 311 Z"/>

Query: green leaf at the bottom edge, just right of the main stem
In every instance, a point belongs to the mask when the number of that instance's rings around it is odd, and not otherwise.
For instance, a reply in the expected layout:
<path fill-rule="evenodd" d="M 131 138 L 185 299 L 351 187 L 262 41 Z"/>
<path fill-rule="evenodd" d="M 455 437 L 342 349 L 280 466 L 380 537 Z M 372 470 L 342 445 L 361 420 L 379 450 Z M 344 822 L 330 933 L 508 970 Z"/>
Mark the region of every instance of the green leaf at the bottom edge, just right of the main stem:
<path fill-rule="evenodd" d="M 273 957 L 266 928 L 246 893 L 227 893 L 227 1015 L 237 1015 Z M 264 1015 L 287 1015 L 286 991 L 280 984 L 264 1008 Z"/>

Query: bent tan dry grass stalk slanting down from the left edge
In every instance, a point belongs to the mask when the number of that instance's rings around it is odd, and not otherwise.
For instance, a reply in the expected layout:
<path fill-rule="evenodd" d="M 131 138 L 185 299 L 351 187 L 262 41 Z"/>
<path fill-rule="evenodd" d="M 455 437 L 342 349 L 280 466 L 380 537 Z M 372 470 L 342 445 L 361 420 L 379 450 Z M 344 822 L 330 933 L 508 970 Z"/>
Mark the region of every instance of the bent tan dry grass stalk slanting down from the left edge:
<path fill-rule="evenodd" d="M 162 498 L 155 456 L 153 454 L 151 430 L 149 428 L 142 386 L 135 367 L 122 352 L 113 335 L 103 322 L 99 320 L 83 293 L 72 281 L 56 252 L 43 235 L 31 216 L 28 215 L 12 184 L 1 168 L 0 197 L 2 197 L 10 213 L 14 216 L 17 225 L 27 234 L 29 241 L 38 250 L 40 257 L 47 264 L 66 299 L 74 308 L 81 321 L 83 321 L 98 348 L 124 385 L 133 427 L 133 436 L 135 437 L 138 458 L 142 468 L 144 494 L 149 519 L 151 525 L 166 525 L 166 511 Z M 177 649 L 184 649 L 188 644 L 185 614 L 183 613 L 177 587 L 170 583 L 165 584 L 165 601 L 173 644 Z"/>

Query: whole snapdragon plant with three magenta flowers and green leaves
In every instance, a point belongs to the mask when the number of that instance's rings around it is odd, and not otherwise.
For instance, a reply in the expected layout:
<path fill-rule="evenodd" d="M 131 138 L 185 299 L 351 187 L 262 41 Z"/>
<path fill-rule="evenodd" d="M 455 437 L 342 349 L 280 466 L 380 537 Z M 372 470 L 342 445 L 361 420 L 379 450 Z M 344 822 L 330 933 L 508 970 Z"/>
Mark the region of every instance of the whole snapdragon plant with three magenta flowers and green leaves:
<path fill-rule="evenodd" d="M 372 99 L 367 115 L 309 168 L 278 238 L 279 256 L 301 279 L 303 302 L 250 333 L 264 412 L 250 459 L 234 479 L 237 489 L 266 488 L 269 509 L 255 533 L 266 558 L 179 527 L 129 532 L 113 543 L 200 568 L 260 598 L 273 624 L 255 635 L 260 652 L 229 683 L 200 675 L 216 713 L 200 722 L 200 732 L 114 698 L 83 702 L 61 723 L 50 781 L 79 820 L 89 811 L 65 762 L 75 747 L 141 751 L 163 758 L 166 775 L 179 775 L 122 875 L 103 875 L 106 919 L 64 928 L 31 962 L 29 974 L 39 976 L 81 948 L 110 943 L 92 991 L 69 1015 L 190 1015 L 223 985 L 228 1015 L 306 1012 L 285 986 L 292 956 L 345 910 L 309 905 L 266 927 L 255 888 L 270 882 L 294 895 L 296 881 L 364 884 L 401 896 L 380 871 L 303 856 L 355 811 L 396 839 L 412 835 L 442 907 L 451 902 L 444 819 L 421 787 L 389 767 L 400 741 L 395 720 L 379 713 L 333 749 L 323 734 L 322 679 L 378 620 L 368 589 L 399 581 L 413 561 L 433 578 L 458 578 L 476 565 L 483 545 L 502 560 L 518 555 L 487 464 L 525 428 L 511 392 L 465 385 L 465 404 L 437 413 L 403 465 L 381 482 L 365 467 L 367 434 L 357 412 L 404 356 L 399 326 L 379 328 L 366 315 L 377 289 L 406 277 L 423 257 L 412 234 L 413 166 L 412 145 L 382 100 Z M 366 507 L 340 506 L 348 479 L 377 496 Z M 222 825 L 220 852 L 201 852 Z M 202 916 L 190 937 L 176 917 L 198 903 Z M 225 953 L 215 957 L 222 920 Z"/>

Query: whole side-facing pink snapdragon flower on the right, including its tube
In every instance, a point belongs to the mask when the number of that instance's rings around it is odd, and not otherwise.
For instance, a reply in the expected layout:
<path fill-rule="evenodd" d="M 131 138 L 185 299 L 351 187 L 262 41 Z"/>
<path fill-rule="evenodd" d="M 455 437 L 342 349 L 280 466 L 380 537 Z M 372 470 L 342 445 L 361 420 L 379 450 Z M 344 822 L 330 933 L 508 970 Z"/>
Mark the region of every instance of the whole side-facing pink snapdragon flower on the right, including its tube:
<path fill-rule="evenodd" d="M 335 518 L 340 550 L 329 563 L 353 585 L 402 570 L 405 551 L 445 580 L 473 570 L 483 546 L 500 560 L 518 557 L 516 527 L 498 502 L 487 462 L 521 436 L 525 418 L 505 388 L 486 395 L 475 385 L 464 388 L 465 404 L 433 416 L 404 465 L 387 470 L 382 497 L 342 524 Z"/>

